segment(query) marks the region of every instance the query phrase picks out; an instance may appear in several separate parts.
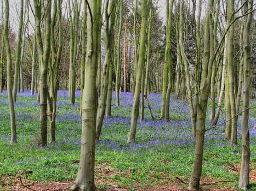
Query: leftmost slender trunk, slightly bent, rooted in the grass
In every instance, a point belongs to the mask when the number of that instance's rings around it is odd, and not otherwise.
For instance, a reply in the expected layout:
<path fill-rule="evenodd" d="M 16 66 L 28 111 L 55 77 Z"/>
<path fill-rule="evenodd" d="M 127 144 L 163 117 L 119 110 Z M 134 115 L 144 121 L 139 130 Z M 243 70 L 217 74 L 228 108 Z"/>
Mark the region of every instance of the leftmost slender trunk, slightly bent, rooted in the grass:
<path fill-rule="evenodd" d="M 15 123 L 15 110 L 13 103 L 13 95 L 12 95 L 12 53 L 10 51 L 10 44 L 8 39 L 8 26 L 9 26 L 9 1 L 5 0 L 5 14 L 4 14 L 4 45 L 7 57 L 7 92 L 8 92 L 8 101 L 9 101 L 9 111 L 10 111 L 10 128 L 11 128 L 11 139 L 10 143 L 17 142 L 16 136 L 16 123 Z"/>

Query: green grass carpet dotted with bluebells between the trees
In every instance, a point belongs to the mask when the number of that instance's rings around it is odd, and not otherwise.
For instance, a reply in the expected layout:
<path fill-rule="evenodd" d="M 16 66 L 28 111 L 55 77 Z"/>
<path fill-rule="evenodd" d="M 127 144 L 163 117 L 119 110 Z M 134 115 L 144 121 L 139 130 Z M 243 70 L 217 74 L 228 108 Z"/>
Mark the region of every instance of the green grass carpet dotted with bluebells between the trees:
<path fill-rule="evenodd" d="M 30 180 L 46 182 L 75 180 L 81 139 L 81 117 L 77 111 L 79 92 L 76 92 L 76 104 L 70 104 L 67 91 L 58 92 L 57 142 L 45 148 L 38 148 L 36 144 L 39 126 L 36 96 L 30 96 L 29 91 L 18 93 L 15 103 L 18 144 L 10 145 L 7 92 L 0 94 L 0 176 L 21 174 Z M 168 183 L 174 181 L 175 176 L 189 181 L 195 140 L 188 105 L 171 97 L 171 121 L 168 123 L 159 119 L 161 94 L 152 93 L 149 100 L 157 120 L 152 120 L 145 109 L 145 120 L 137 125 L 136 142 L 127 144 L 132 95 L 120 93 L 120 99 L 121 106 L 116 107 L 113 94 L 112 117 L 104 119 L 100 141 L 96 144 L 96 178 L 115 182 L 118 187 L 128 190 L 135 186 Z M 252 100 L 251 106 L 255 105 L 255 100 Z M 251 110 L 249 117 L 253 169 L 256 162 L 255 111 Z M 220 116 L 219 122 L 223 121 L 224 117 Z M 207 126 L 209 124 L 207 121 Z M 239 177 L 235 171 L 229 170 L 229 166 L 241 161 L 241 116 L 238 118 L 237 146 L 230 146 L 224 139 L 224 132 L 224 125 L 206 132 L 202 177 L 235 181 L 225 183 L 225 186 L 236 187 Z M 252 185 L 251 190 L 255 190 L 255 184 Z M 104 183 L 97 186 L 107 187 Z"/>

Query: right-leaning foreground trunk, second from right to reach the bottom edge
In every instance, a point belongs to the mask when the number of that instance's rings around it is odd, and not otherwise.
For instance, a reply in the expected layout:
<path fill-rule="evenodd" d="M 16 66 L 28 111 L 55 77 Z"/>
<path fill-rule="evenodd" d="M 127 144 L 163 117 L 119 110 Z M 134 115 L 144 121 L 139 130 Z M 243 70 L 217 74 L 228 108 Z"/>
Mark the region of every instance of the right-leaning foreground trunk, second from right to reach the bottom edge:
<path fill-rule="evenodd" d="M 208 10 L 206 21 L 204 24 L 204 46 L 203 46 L 203 64 L 202 64 L 202 77 L 201 77 L 201 97 L 197 106 L 197 126 L 196 126 L 196 148 L 194 155 L 194 163 L 191 172 L 189 190 L 199 190 L 200 178 L 202 174 L 202 160 L 203 160 L 203 144 L 206 123 L 206 109 L 207 100 L 211 88 L 211 75 L 212 75 L 212 57 L 211 40 L 210 40 L 210 26 L 212 25 L 212 10 L 213 0 L 208 1 Z"/>

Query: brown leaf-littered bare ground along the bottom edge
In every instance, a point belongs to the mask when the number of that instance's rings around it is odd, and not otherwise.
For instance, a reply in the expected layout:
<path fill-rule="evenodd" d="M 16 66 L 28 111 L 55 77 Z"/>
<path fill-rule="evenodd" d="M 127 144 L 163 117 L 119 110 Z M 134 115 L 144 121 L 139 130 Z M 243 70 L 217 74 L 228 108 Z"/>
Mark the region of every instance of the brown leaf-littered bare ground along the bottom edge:
<path fill-rule="evenodd" d="M 237 172 L 239 174 L 239 172 Z M 3 180 L 3 176 L 1 177 Z M 4 182 L 0 184 L 0 190 L 10 190 L 10 191 L 67 191 L 69 190 L 70 186 L 72 186 L 73 181 L 66 181 L 66 182 L 37 182 L 37 181 L 30 181 L 21 179 L 19 176 L 4 176 Z M 251 170 L 250 172 L 250 181 L 256 184 L 256 170 Z M 225 184 L 221 184 L 221 181 L 215 181 L 213 179 L 201 179 L 202 185 L 201 190 L 204 191 L 236 191 L 236 188 L 226 187 Z M 95 183 L 104 183 L 107 185 L 106 188 L 97 188 L 97 191 L 126 191 L 127 188 L 119 188 L 115 185 L 116 182 L 106 182 L 106 180 L 98 179 L 95 180 Z M 225 182 L 224 182 L 225 183 Z M 252 188 L 254 190 L 255 184 Z M 172 181 L 168 184 L 158 184 L 152 188 L 141 188 L 135 187 L 134 190 L 136 191 L 161 191 L 161 190 L 169 190 L 169 191 L 185 191 L 187 190 L 185 187 L 185 183 L 181 181 Z"/>

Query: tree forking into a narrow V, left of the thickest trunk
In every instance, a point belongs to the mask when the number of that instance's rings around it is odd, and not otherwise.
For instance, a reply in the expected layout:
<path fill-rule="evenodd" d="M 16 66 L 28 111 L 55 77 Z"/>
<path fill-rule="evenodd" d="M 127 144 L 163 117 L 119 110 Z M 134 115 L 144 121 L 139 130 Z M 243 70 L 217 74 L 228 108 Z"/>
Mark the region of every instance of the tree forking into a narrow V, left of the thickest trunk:
<path fill-rule="evenodd" d="M 39 142 L 38 145 L 43 147 L 47 145 L 47 94 L 48 94 L 48 63 L 50 57 L 50 22 L 52 1 L 34 0 L 35 7 L 35 35 L 37 40 L 38 58 L 39 58 Z M 45 17 L 43 19 L 43 7 L 45 6 Z M 42 29 L 44 21 L 44 30 Z M 42 37 L 44 31 L 44 38 Z"/>

